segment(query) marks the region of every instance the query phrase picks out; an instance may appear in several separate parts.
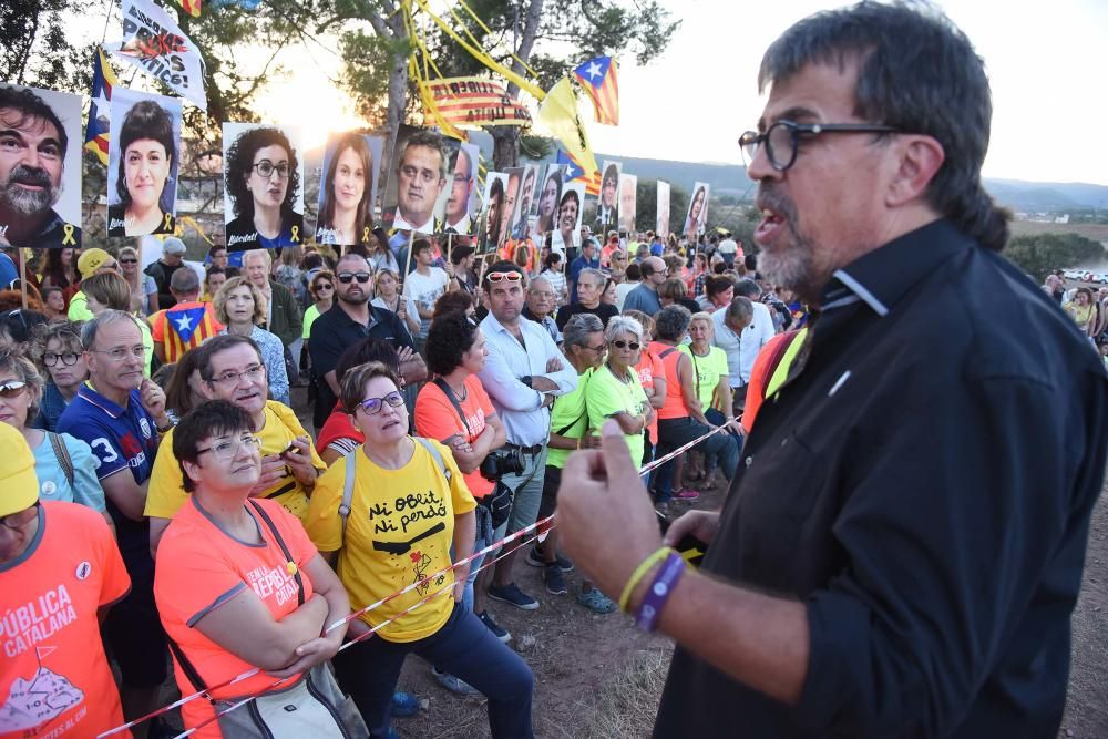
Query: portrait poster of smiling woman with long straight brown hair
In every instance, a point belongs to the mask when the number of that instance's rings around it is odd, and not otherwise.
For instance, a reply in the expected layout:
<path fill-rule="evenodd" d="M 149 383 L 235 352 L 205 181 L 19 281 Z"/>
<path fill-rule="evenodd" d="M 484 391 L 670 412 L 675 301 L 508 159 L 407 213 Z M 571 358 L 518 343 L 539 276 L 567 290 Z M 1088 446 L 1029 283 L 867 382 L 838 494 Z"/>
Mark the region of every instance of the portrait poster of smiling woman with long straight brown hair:
<path fill-rule="evenodd" d="M 332 133 L 324 150 L 316 240 L 331 246 L 369 245 L 384 141 L 348 131 Z"/>

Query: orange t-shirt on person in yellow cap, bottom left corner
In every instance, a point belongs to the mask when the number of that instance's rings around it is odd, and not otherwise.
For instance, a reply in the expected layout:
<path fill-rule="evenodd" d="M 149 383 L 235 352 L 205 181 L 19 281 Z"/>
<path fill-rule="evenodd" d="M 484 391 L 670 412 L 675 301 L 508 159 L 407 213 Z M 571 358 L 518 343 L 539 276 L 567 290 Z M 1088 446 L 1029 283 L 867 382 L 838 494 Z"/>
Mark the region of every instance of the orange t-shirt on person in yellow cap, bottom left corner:
<path fill-rule="evenodd" d="M 95 737 L 123 723 L 96 609 L 130 589 L 104 517 L 43 501 L 27 552 L 0 565 L 0 737 Z"/>

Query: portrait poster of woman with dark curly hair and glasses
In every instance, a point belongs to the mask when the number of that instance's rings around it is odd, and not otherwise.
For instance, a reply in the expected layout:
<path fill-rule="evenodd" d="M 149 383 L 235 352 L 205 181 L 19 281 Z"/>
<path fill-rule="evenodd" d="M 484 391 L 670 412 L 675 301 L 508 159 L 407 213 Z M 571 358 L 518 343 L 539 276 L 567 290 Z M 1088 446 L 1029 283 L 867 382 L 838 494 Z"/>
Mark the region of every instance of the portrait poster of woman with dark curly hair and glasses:
<path fill-rule="evenodd" d="M 304 244 L 304 156 L 298 129 L 223 124 L 227 250 Z"/>

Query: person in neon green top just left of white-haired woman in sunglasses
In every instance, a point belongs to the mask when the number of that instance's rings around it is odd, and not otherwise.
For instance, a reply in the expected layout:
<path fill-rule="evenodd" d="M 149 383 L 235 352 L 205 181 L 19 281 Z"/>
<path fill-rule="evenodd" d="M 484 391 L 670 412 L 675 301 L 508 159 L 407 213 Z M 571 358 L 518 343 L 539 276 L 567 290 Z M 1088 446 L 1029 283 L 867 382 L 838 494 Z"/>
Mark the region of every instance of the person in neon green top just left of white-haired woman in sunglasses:
<path fill-rule="evenodd" d="M 551 435 L 546 453 L 546 470 L 543 476 L 543 499 L 538 506 L 538 519 L 546 519 L 557 506 L 557 490 L 562 484 L 562 469 L 573 450 L 597 449 L 599 437 L 589 433 L 595 430 L 588 417 L 586 396 L 589 380 L 596 372 L 603 372 L 604 355 L 607 343 L 604 341 L 604 324 L 592 314 L 577 314 L 565 325 L 563 337 L 565 358 L 577 372 L 577 387 L 567 394 L 561 396 L 551 407 Z M 527 556 L 529 564 L 537 560 L 544 565 L 543 579 L 546 592 L 562 595 L 570 592 L 565 584 L 564 564 L 557 557 L 558 530 L 551 528 L 542 546 L 535 545 L 534 555 Z M 577 603 L 593 613 L 608 614 L 616 609 L 616 604 L 583 579 Z"/>

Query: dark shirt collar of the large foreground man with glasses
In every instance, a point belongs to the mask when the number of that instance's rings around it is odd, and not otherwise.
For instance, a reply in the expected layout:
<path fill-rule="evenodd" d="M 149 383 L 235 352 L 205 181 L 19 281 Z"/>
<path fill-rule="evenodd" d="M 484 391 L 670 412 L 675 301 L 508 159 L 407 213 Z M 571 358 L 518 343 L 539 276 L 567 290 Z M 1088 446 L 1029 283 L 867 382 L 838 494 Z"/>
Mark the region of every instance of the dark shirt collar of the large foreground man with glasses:
<path fill-rule="evenodd" d="M 861 301 L 884 317 L 938 264 L 973 246 L 950 220 L 933 220 L 837 269 L 820 306 L 828 312 Z"/>

